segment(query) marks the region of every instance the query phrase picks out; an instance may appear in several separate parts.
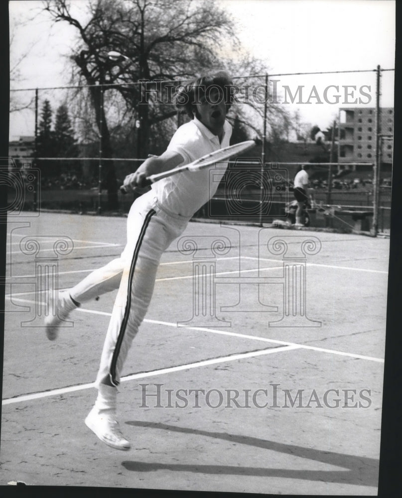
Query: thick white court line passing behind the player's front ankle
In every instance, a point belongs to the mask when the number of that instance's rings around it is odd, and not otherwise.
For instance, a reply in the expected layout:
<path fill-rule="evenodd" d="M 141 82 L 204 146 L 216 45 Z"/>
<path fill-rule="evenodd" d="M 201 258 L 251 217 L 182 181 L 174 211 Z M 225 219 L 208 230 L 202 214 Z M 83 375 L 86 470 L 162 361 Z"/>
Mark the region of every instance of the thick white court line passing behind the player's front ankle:
<path fill-rule="evenodd" d="M 131 375 L 125 375 L 120 380 L 122 382 L 127 382 L 128 380 L 134 380 L 137 378 L 152 377 L 154 375 L 163 375 L 164 373 L 180 372 L 182 370 L 194 369 L 198 367 L 206 367 L 209 365 L 215 365 L 217 363 L 233 362 L 235 360 L 242 360 L 244 358 L 253 358 L 256 356 L 270 355 L 272 353 L 279 353 L 280 351 L 290 351 L 292 349 L 297 349 L 297 346 L 283 346 L 280 348 L 269 348 L 260 351 L 252 351 L 250 353 L 239 353 L 235 355 L 221 356 L 219 358 L 202 360 L 200 362 L 188 363 L 186 365 L 179 365 L 177 367 L 170 367 L 167 369 L 153 370 L 151 372 L 133 373 Z M 90 384 L 79 384 L 79 385 L 72 385 L 69 387 L 61 387 L 59 389 L 52 389 L 50 391 L 35 392 L 32 394 L 23 394 L 21 396 L 15 396 L 12 398 L 3 399 L 1 404 L 4 406 L 11 403 L 19 403 L 21 401 L 31 401 L 32 399 L 39 399 L 48 396 L 56 396 L 57 394 L 65 394 L 66 392 L 81 391 L 83 389 L 90 389 L 91 387 L 95 387 L 95 382 L 91 382 Z"/>

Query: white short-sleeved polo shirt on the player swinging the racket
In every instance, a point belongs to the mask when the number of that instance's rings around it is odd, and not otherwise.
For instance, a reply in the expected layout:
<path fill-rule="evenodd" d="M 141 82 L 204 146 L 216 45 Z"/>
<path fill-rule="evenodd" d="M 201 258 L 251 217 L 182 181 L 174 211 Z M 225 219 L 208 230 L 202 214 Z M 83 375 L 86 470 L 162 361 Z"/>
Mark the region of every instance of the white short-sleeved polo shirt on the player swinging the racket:
<path fill-rule="evenodd" d="M 225 121 L 222 142 L 197 118 L 182 124 L 172 136 L 167 150 L 179 153 L 184 161 L 183 166 L 214 150 L 227 147 L 232 135 L 232 126 Z M 187 218 L 191 216 L 215 194 L 220 179 L 227 168 L 228 161 L 219 163 L 218 175 L 214 173 L 214 181 L 210 182 L 210 169 L 200 171 L 184 171 L 152 184 L 158 203 L 173 214 Z M 177 166 L 177 167 L 178 167 Z"/>

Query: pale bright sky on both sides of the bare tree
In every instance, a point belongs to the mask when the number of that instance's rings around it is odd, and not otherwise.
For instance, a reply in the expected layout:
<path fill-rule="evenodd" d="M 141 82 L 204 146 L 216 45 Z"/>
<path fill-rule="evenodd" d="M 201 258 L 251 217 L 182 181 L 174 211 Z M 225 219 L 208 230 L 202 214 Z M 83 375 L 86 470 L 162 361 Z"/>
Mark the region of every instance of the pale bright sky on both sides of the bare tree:
<path fill-rule="evenodd" d="M 85 3 L 85 0 L 72 1 L 77 15 L 84 15 Z M 303 121 L 325 129 L 337 117 L 340 104 L 353 107 L 360 99 L 361 105 L 375 106 L 373 70 L 378 64 L 386 69 L 395 65 L 395 1 L 217 0 L 217 3 L 233 16 L 243 50 L 264 61 L 268 75 L 371 70 L 336 75 L 269 76 L 270 80 L 276 80 L 270 83 L 270 88 L 276 85 L 280 105 L 286 105 L 291 112 L 298 109 Z M 48 14 L 41 11 L 40 1 L 11 0 L 9 13 L 13 33 L 10 66 L 27 54 L 19 64 L 19 79 L 11 82 L 11 88 L 68 84 L 67 56 L 74 44 L 75 28 L 61 22 L 52 25 Z M 393 78 L 393 71 L 382 73 L 382 107 L 394 105 Z M 299 86 L 301 93 L 296 94 Z M 291 104 L 291 96 L 295 95 L 297 98 Z M 32 92 L 20 96 L 29 100 Z M 13 113 L 10 138 L 33 135 L 32 119 L 31 111 Z"/>

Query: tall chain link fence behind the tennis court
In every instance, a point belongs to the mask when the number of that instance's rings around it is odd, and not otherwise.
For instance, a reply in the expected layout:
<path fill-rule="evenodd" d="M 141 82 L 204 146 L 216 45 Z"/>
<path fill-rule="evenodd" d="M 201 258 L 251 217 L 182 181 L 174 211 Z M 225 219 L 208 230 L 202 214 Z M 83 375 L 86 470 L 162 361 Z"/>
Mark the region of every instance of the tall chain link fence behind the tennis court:
<path fill-rule="evenodd" d="M 374 235 L 387 232 L 393 104 L 381 107 L 380 99 L 384 88 L 393 94 L 393 74 L 377 67 L 234 77 L 236 104 L 228 114 L 232 141 L 258 137 L 260 144 L 248 157 L 230 162 L 214 198 L 195 216 L 256 223 L 286 218 L 297 169 L 314 163 L 312 225 L 331 227 L 338 217 L 344 219 L 345 230 L 356 229 L 358 215 L 353 212 L 371 212 L 365 216 L 369 225 L 360 223 L 362 229 Z M 122 196 L 119 185 L 147 154 L 162 153 L 175 129 L 188 120 L 173 103 L 175 90 L 183 83 L 11 90 L 10 125 L 19 136 L 10 140 L 9 171 L 39 171 L 36 180 L 28 182 L 32 188 L 24 193 L 24 209 L 110 212 L 114 191 L 112 210 L 128 212 L 141 191 Z M 388 97 L 387 102 L 391 101 Z M 355 111 L 352 121 L 351 110 Z M 358 122 L 359 110 L 372 111 L 372 126 Z M 326 129 L 315 127 L 324 116 Z M 314 127 L 316 133 L 312 133 Z M 12 185 L 9 189 L 11 198 L 18 195 Z"/>

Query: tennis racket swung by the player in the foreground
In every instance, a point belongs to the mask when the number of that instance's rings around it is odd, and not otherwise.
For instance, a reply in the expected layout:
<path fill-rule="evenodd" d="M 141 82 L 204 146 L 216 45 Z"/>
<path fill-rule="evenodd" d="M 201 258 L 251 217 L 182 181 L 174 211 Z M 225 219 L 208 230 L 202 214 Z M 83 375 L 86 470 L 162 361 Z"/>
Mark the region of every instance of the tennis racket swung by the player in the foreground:
<path fill-rule="evenodd" d="M 211 164 L 223 162 L 236 154 L 245 152 L 251 147 L 254 147 L 254 145 L 256 145 L 255 140 L 246 140 L 245 142 L 235 143 L 234 145 L 229 145 L 229 147 L 224 147 L 223 149 L 214 150 L 209 154 L 205 154 L 189 164 L 169 169 L 168 171 L 163 171 L 162 173 L 156 173 L 155 175 L 150 175 L 146 179 L 151 183 L 154 183 L 162 178 L 167 178 L 168 176 L 176 175 L 177 173 L 182 173 L 183 171 L 199 171 L 200 169 L 211 166 Z M 120 191 L 122 194 L 127 194 L 128 192 L 124 185 L 120 187 Z"/>

